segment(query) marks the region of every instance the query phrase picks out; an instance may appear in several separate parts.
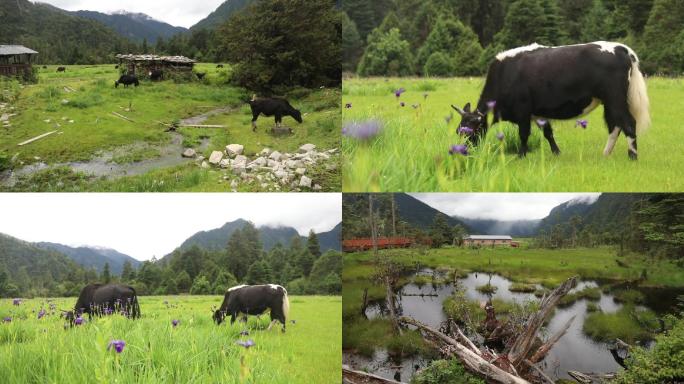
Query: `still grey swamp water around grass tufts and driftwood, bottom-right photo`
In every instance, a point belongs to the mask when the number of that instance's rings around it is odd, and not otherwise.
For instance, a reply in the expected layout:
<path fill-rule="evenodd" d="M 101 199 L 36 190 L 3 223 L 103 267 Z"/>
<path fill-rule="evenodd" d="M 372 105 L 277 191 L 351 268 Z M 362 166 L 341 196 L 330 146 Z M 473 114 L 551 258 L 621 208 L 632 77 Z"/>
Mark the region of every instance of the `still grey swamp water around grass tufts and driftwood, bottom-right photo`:
<path fill-rule="evenodd" d="M 423 269 L 417 275 L 430 275 L 436 272 L 430 269 Z M 437 275 L 436 275 L 437 276 Z M 436 280 L 439 281 L 439 280 Z M 499 275 L 490 275 L 486 273 L 471 273 L 465 278 L 458 279 L 458 284 L 465 290 L 465 295 L 470 300 L 487 301 L 488 295 L 477 291 L 477 287 L 484 284 L 491 284 L 497 287 L 496 292 L 491 295 L 492 298 L 504 301 L 515 301 L 522 303 L 527 300 L 537 300 L 531 293 L 511 292 L 509 290 L 511 281 Z M 595 281 L 580 281 L 571 292 L 581 291 L 588 287 L 598 287 Z M 650 289 L 649 294 L 653 297 L 656 295 L 652 292 L 655 289 Z M 656 290 L 658 291 L 658 290 Z M 677 292 L 669 292 L 670 290 L 659 290 L 665 294 L 684 293 L 681 290 Z M 667 292 L 665 292 L 667 291 Z M 442 303 L 454 292 L 453 284 L 424 284 L 422 286 L 416 284 L 407 284 L 403 286 L 398 292 L 398 311 L 401 315 L 410 316 L 434 328 L 439 328 L 441 322 L 446 320 L 446 316 L 442 310 Z M 661 294 L 662 296 L 662 294 Z M 644 307 L 652 309 L 658 313 L 672 311 L 674 307 L 669 308 L 651 308 L 648 306 L 648 297 Z M 675 295 L 676 297 L 676 295 Z M 601 307 L 604 313 L 613 313 L 622 308 L 622 305 L 616 303 L 612 294 L 601 293 L 600 300 L 597 304 Z M 378 316 L 385 316 L 387 309 L 384 301 L 374 302 L 369 305 L 366 310 L 366 316 L 374 318 Z M 616 372 L 621 368 L 615 362 L 610 352 L 608 345 L 605 343 L 595 342 L 582 332 L 584 320 L 587 317 L 587 301 L 582 299 L 573 303 L 566 308 L 557 308 L 553 317 L 545 330 L 543 336 L 557 332 L 563 325 L 572 317 L 575 320 L 566 332 L 566 334 L 554 345 L 547 358 L 542 362 L 542 369 L 546 374 L 557 377 L 570 379 L 567 371 L 577 370 L 581 372 Z M 369 369 L 371 372 L 377 373 L 384 377 L 392 378 L 387 374 L 387 369 L 374 372 L 372 367 L 379 363 L 371 359 Z M 379 365 L 378 365 L 379 366 Z M 394 374 L 393 372 L 391 372 Z M 402 371 L 402 379 L 409 381 L 410 377 L 405 377 L 405 374 L 410 372 Z"/>

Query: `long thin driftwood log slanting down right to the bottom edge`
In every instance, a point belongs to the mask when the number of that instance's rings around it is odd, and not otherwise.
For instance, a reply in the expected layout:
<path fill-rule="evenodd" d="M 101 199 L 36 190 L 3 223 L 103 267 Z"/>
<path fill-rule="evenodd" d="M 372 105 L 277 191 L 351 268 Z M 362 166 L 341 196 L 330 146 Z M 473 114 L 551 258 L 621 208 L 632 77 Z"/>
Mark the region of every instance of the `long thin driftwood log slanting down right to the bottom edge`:
<path fill-rule="evenodd" d="M 454 354 L 458 356 L 459 360 L 461 360 L 468 369 L 483 377 L 486 377 L 488 380 L 493 380 L 497 383 L 505 384 L 530 384 L 529 381 L 522 379 L 518 376 L 515 376 L 509 372 L 506 372 L 503 369 L 497 367 L 496 365 L 490 363 L 485 358 L 483 358 L 481 354 L 478 354 L 477 352 L 470 350 L 468 347 L 459 343 L 457 340 L 435 329 L 432 329 L 417 320 L 414 320 L 410 317 L 402 317 L 401 319 L 399 319 L 399 321 L 402 323 L 416 326 L 422 329 L 423 331 L 436 336 L 443 342 L 451 345 L 453 347 Z"/>

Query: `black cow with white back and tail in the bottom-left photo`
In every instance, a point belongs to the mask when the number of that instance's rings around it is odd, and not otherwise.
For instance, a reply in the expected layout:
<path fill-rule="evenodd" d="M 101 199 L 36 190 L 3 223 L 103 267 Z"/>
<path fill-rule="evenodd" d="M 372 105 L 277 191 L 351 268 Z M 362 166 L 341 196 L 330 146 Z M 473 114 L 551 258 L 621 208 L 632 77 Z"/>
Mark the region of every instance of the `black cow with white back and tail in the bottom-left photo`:
<path fill-rule="evenodd" d="M 238 285 L 226 291 L 221 308 L 214 312 L 214 321 L 219 325 L 230 315 L 230 323 L 233 324 L 238 314 L 261 315 L 267 309 L 271 310 L 271 324 L 268 329 L 276 321 L 280 321 L 285 332 L 285 322 L 290 310 L 290 300 L 285 288 L 275 284 Z"/>

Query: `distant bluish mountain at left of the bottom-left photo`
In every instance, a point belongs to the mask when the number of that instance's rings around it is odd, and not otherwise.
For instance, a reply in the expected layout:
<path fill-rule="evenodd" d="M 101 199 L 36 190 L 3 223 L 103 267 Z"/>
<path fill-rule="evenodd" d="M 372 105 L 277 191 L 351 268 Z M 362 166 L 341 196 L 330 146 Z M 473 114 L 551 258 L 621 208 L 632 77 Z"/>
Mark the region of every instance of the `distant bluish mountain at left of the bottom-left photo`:
<path fill-rule="evenodd" d="M 137 268 L 140 265 L 140 261 L 110 248 L 70 247 L 48 242 L 40 242 L 35 245 L 64 254 L 85 268 L 94 267 L 98 273 L 102 272 L 106 263 L 109 263 L 109 270 L 112 275 L 121 275 L 126 261 L 130 262 L 133 268 Z"/>

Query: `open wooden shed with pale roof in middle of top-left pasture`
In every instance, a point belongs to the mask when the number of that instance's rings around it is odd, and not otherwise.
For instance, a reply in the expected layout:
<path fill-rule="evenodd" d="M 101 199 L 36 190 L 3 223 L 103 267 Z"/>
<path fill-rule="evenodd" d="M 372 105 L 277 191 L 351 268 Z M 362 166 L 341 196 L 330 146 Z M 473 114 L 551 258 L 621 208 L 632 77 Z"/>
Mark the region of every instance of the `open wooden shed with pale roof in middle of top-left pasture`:
<path fill-rule="evenodd" d="M 196 61 L 185 56 L 157 56 L 157 55 L 116 55 L 119 68 L 138 78 L 149 77 L 150 71 L 162 70 L 165 74 L 177 73 L 190 76 Z"/>

